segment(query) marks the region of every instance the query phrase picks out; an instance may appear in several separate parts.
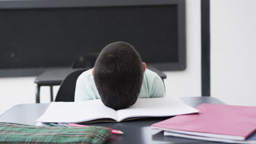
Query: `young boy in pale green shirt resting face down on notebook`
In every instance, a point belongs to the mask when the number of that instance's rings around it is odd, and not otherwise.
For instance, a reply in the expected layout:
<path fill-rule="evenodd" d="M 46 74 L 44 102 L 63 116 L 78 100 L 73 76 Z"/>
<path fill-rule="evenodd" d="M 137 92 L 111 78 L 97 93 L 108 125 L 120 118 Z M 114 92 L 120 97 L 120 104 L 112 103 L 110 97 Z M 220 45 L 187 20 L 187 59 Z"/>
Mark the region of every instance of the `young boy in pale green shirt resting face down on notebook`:
<path fill-rule="evenodd" d="M 75 87 L 75 101 L 100 99 L 112 109 L 125 109 L 137 98 L 165 96 L 158 74 L 146 69 L 138 52 L 123 41 L 107 45 L 95 67 L 82 73 Z"/>

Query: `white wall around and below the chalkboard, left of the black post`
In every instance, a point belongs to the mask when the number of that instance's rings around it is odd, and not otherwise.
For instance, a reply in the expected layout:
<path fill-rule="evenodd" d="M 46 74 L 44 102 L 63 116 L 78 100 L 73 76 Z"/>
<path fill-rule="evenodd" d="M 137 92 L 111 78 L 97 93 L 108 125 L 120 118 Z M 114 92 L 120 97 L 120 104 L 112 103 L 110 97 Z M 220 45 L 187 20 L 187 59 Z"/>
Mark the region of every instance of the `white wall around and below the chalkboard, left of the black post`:
<path fill-rule="evenodd" d="M 201 13 L 200 0 L 187 0 L 187 69 L 165 71 L 167 97 L 201 96 Z M 11 106 L 35 102 L 36 77 L 0 78 L 0 113 Z M 58 90 L 54 87 L 54 93 Z M 49 103 L 49 87 L 41 87 L 41 103 Z"/>

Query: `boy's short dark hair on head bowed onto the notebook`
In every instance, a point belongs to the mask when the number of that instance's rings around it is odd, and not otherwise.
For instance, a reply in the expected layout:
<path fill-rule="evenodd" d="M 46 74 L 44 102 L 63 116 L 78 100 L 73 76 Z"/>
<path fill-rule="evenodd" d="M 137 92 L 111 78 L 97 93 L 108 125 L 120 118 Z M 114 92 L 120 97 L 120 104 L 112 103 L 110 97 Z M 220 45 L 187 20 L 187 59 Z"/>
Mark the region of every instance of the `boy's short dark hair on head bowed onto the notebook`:
<path fill-rule="evenodd" d="M 118 41 L 104 47 L 94 67 L 94 81 L 103 104 L 115 110 L 135 104 L 143 73 L 141 57 L 132 45 Z"/>

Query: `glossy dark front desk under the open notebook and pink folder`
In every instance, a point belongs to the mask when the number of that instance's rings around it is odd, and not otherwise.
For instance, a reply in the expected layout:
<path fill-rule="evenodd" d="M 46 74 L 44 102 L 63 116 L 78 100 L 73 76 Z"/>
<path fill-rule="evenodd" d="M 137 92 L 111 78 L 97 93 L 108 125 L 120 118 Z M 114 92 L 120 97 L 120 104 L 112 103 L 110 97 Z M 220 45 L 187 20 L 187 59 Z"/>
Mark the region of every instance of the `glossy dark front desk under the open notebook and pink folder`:
<path fill-rule="evenodd" d="M 213 97 L 183 97 L 185 104 L 196 107 L 202 103 L 225 104 Z M 0 122 L 36 124 L 36 119 L 47 109 L 49 104 L 20 104 L 12 107 L 2 116 Z M 173 136 L 164 136 L 162 131 L 150 129 L 150 125 L 169 117 L 135 119 L 121 123 L 95 123 L 97 125 L 111 127 L 124 131 L 124 135 L 112 135 L 106 143 L 218 143 L 193 139 L 183 139 Z"/>

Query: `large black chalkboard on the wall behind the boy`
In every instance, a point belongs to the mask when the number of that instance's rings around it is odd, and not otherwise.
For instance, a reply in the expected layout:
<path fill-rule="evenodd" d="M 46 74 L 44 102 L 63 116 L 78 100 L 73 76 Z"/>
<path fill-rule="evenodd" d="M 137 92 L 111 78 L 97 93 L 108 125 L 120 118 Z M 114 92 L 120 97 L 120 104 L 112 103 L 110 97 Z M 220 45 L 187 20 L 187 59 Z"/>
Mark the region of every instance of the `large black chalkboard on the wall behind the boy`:
<path fill-rule="evenodd" d="M 185 21 L 181 25 L 179 19 L 184 17 L 178 11 L 173 3 L 2 8 L 0 68 L 66 67 L 85 53 L 126 41 L 144 62 L 181 70 L 185 68 Z"/>

